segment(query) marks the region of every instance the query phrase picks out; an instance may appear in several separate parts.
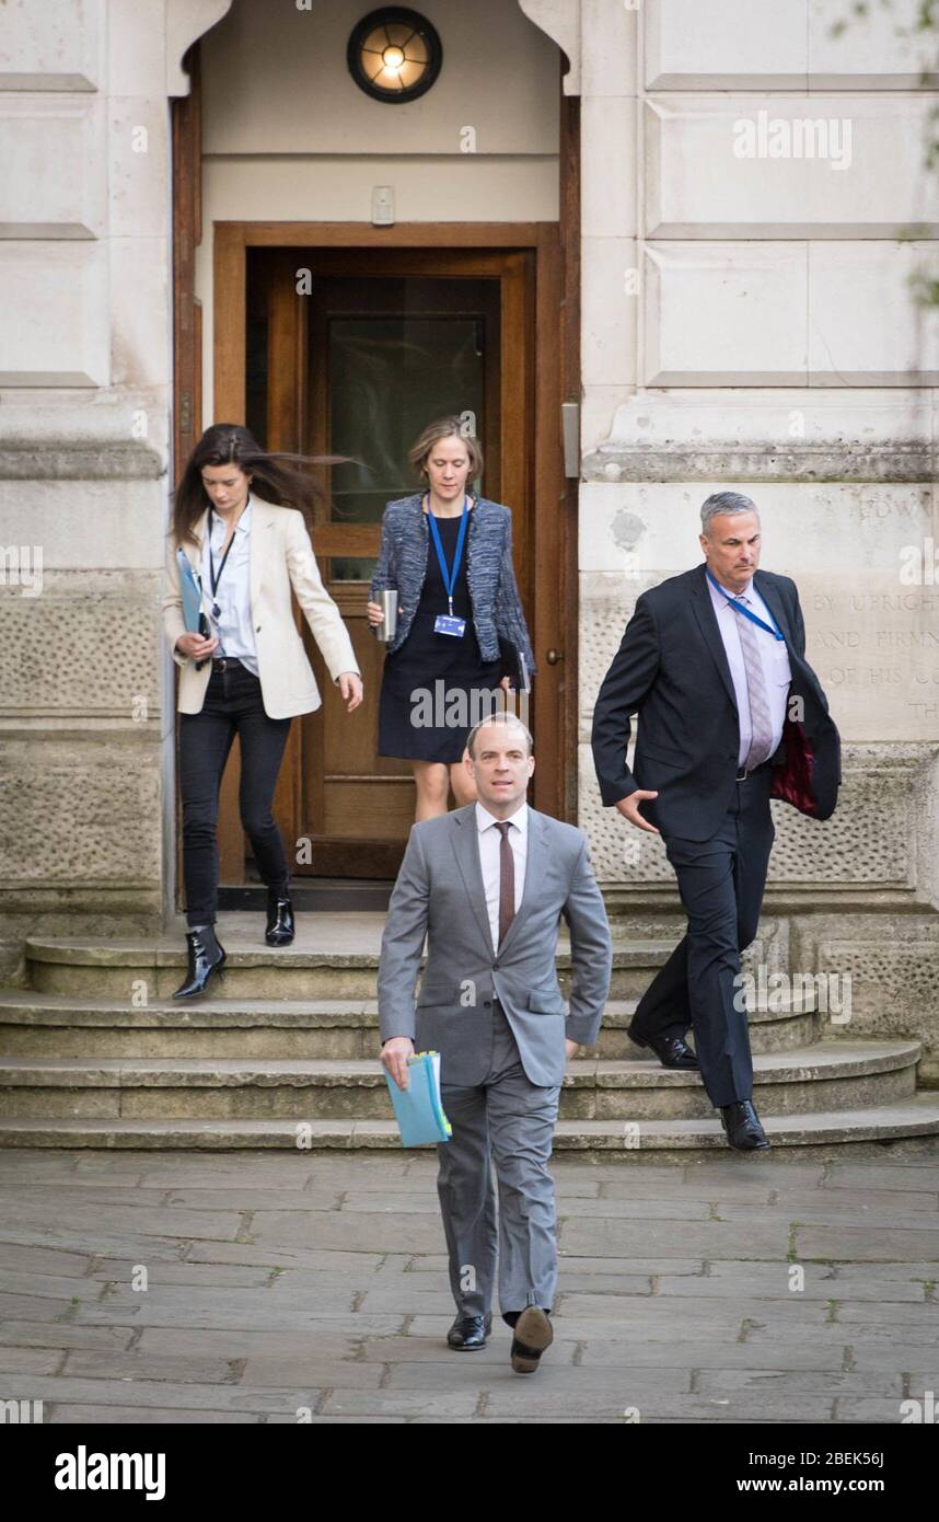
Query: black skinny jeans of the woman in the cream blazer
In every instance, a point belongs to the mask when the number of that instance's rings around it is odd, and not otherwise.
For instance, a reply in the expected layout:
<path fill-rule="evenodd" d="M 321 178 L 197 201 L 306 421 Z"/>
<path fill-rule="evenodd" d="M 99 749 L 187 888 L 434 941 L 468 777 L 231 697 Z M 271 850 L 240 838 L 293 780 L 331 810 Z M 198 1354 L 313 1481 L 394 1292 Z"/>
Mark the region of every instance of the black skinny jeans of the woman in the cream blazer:
<path fill-rule="evenodd" d="M 201 712 L 180 714 L 183 877 L 189 925 L 215 924 L 219 788 L 236 734 L 242 747 L 242 825 L 262 880 L 286 893 L 289 871 L 271 804 L 289 729 L 289 718 L 268 718 L 260 682 L 242 665 L 213 671 Z"/>

